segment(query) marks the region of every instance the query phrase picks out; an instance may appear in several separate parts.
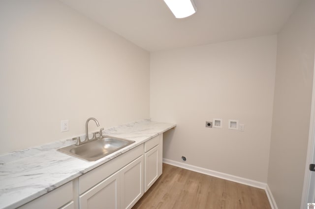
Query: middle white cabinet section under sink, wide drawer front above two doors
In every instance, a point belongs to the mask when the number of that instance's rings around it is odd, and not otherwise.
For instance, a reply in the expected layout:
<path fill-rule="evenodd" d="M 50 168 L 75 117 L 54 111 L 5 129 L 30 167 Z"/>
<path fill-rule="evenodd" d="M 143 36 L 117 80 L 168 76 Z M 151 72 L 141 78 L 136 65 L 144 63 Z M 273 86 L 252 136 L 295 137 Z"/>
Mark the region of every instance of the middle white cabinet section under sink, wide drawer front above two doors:
<path fill-rule="evenodd" d="M 143 149 L 140 145 L 79 177 L 80 209 L 131 209 L 144 193 Z"/>

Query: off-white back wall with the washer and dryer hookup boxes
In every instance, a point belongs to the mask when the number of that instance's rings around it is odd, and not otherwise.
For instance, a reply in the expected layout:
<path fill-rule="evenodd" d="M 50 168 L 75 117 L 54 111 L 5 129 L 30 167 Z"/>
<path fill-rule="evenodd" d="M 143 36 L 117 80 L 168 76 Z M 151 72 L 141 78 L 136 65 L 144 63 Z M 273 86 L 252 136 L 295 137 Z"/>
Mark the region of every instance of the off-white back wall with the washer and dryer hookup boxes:
<path fill-rule="evenodd" d="M 277 36 L 265 36 L 151 53 L 151 118 L 177 123 L 164 157 L 266 182 L 276 48 Z M 213 118 L 221 129 L 205 128 Z"/>

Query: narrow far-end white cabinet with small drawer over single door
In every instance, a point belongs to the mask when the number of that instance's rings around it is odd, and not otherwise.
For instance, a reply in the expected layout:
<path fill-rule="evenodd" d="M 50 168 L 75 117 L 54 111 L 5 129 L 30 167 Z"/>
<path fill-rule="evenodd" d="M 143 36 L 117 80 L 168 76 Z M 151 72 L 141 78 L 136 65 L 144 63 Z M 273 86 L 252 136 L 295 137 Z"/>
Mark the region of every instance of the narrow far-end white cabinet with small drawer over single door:
<path fill-rule="evenodd" d="M 162 174 L 163 135 L 158 135 L 144 145 L 144 191 L 146 192 Z"/>

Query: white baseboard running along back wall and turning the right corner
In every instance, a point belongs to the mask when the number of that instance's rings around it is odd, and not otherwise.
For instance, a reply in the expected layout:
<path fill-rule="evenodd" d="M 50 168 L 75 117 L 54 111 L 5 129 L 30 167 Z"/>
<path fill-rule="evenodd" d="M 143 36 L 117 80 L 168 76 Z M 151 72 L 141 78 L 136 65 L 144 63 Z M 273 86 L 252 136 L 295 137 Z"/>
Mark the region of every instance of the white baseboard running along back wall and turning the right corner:
<path fill-rule="evenodd" d="M 213 176 L 213 177 L 218 177 L 220 179 L 230 180 L 230 181 L 234 181 L 234 182 L 237 182 L 237 183 L 242 183 L 242 184 L 245 184 L 245 185 L 253 186 L 253 187 L 256 187 L 256 188 L 259 188 L 259 189 L 264 189 L 266 191 L 266 194 L 267 194 L 267 197 L 268 197 L 268 200 L 269 200 L 271 208 L 272 209 L 278 209 L 276 201 L 275 201 L 275 199 L 274 199 L 274 197 L 273 197 L 273 195 L 271 193 L 271 190 L 270 190 L 270 188 L 269 188 L 267 183 L 263 183 L 263 182 L 260 182 L 260 181 L 255 181 L 255 180 L 252 180 L 252 179 L 245 179 L 245 178 L 242 178 L 242 177 L 237 177 L 237 176 L 233 176 L 233 175 L 229 175 L 229 174 L 224 174 L 224 173 L 221 173 L 221 172 L 218 172 L 218 171 L 212 171 L 212 170 L 209 170 L 209 169 L 205 169 L 205 168 L 189 165 L 187 163 L 181 163 L 181 162 L 177 162 L 177 161 L 169 160 L 169 159 L 165 159 L 165 158 L 163 158 L 163 163 L 170 164 L 170 165 L 173 165 L 173 166 L 177 166 L 177 167 L 180 167 L 180 168 L 184 168 L 184 169 L 187 169 L 187 170 L 190 170 L 190 171 L 195 171 L 195 172 L 198 172 L 198 173 L 201 173 L 201 174 L 205 174 L 205 175 L 209 175 L 209 176 Z"/>

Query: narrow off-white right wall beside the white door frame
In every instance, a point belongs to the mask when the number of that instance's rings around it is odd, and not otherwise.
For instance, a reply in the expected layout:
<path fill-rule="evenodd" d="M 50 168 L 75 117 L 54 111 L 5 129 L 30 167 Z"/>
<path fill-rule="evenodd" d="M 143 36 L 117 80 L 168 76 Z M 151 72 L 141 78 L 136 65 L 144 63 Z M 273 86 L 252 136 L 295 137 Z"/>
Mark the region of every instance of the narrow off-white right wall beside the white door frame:
<path fill-rule="evenodd" d="M 315 1 L 303 0 L 278 34 L 268 185 L 279 209 L 301 204 L 309 137 Z"/>

